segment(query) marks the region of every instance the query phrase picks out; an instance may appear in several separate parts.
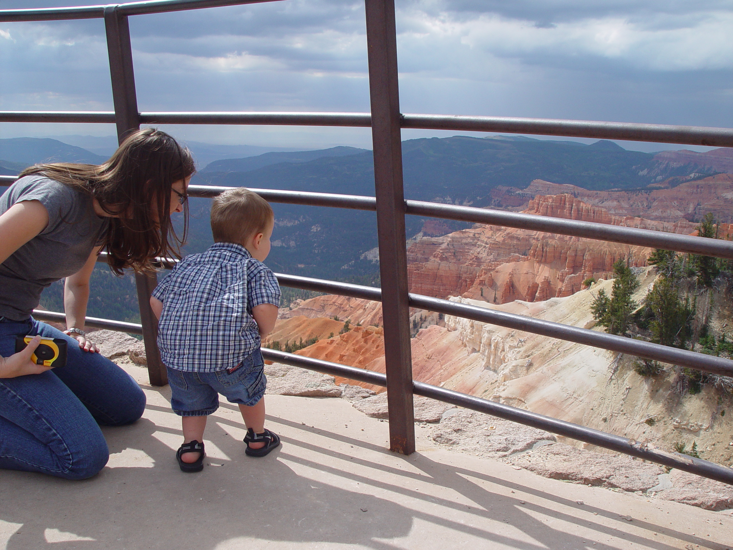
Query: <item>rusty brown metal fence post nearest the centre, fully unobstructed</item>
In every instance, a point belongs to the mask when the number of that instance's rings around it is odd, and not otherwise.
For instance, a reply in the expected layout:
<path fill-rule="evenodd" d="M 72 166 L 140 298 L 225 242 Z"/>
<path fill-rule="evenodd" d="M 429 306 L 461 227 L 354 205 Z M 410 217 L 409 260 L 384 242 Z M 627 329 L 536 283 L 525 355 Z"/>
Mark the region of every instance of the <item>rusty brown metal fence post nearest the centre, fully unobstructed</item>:
<path fill-rule="evenodd" d="M 366 0 L 390 449 L 415 451 L 394 0 Z"/>

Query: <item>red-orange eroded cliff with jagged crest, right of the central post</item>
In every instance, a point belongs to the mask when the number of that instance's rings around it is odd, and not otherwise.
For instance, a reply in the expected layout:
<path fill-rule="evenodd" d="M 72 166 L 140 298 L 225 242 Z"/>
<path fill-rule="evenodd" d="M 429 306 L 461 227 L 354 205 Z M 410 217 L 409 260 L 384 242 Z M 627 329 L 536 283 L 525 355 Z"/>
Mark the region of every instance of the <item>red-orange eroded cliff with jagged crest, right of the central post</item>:
<path fill-rule="evenodd" d="M 695 225 L 613 216 L 570 194 L 537 196 L 525 213 L 642 229 L 690 233 Z M 408 249 L 410 290 L 427 296 L 464 296 L 493 304 L 570 296 L 589 278 L 608 278 L 616 260 L 646 265 L 651 249 L 552 233 L 476 225 Z"/>

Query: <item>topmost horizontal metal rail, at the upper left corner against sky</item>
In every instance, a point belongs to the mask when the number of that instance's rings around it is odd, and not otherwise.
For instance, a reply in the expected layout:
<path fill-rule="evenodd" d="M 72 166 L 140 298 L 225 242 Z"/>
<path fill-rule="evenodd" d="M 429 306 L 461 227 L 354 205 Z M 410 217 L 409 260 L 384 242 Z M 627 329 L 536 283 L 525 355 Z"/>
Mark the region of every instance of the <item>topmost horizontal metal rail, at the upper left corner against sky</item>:
<path fill-rule="evenodd" d="M 45 7 L 32 10 L 0 10 L 0 21 L 67 21 L 70 19 L 96 19 L 104 17 L 106 7 L 117 7 L 121 15 L 180 12 L 200 10 L 206 7 L 260 4 L 274 0 L 146 0 L 128 4 L 107 4 L 80 7 Z"/>

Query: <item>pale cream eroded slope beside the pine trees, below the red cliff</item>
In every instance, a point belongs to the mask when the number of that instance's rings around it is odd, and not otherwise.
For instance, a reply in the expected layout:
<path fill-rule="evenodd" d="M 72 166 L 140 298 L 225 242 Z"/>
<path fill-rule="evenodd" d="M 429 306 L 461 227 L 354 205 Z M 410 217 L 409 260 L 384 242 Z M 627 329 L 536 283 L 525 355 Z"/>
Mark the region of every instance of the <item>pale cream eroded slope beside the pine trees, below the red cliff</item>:
<path fill-rule="evenodd" d="M 637 301 L 653 284 L 654 269 L 645 269 L 640 279 L 634 296 Z M 542 303 L 516 301 L 494 306 L 467 298 L 452 299 L 594 328 L 590 305 L 599 290 L 610 293 L 612 283 L 598 282 L 589 290 Z M 704 386 L 699 395 L 678 395 L 673 391 L 673 370 L 658 378 L 644 378 L 633 370 L 633 356 L 472 320 L 446 316 L 446 329 L 435 330 L 454 331 L 462 347 L 480 357 L 473 367 L 467 365 L 446 379 L 446 388 L 649 442 L 666 450 L 677 442 L 690 448 L 696 441 L 703 458 L 724 464 L 733 461 L 733 422 L 730 415 L 721 416 L 721 411 L 733 406 L 733 401 L 711 386 Z"/>

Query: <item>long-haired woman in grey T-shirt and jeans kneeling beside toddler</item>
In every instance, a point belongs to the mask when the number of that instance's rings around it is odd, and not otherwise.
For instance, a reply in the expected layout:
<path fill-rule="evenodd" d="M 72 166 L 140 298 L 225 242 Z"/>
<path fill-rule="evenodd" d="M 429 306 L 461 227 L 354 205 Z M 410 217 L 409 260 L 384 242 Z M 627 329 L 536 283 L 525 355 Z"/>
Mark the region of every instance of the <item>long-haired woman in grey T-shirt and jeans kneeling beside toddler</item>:
<path fill-rule="evenodd" d="M 84 334 L 89 276 L 101 249 L 118 275 L 180 257 L 186 227 L 178 239 L 170 215 L 185 210 L 193 173 L 191 153 L 148 128 L 100 166 L 31 166 L 0 197 L 0 468 L 90 477 L 109 457 L 99 424 L 141 417 L 139 386 Z M 31 317 L 43 289 L 63 277 L 64 332 Z M 38 337 L 14 353 L 26 335 L 65 338 L 67 364 L 33 364 Z"/>

